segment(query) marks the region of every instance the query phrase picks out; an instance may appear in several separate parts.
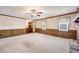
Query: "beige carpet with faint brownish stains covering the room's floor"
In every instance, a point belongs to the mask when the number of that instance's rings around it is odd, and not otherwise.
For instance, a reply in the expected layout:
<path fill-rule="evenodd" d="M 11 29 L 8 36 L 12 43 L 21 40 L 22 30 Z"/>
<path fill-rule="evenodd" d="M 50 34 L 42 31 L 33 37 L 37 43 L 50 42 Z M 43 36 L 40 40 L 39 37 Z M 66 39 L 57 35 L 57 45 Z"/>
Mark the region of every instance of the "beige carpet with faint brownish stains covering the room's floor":
<path fill-rule="evenodd" d="M 0 52 L 65 53 L 70 52 L 69 39 L 40 33 L 30 33 L 14 37 L 2 38 L 0 39 Z"/>

